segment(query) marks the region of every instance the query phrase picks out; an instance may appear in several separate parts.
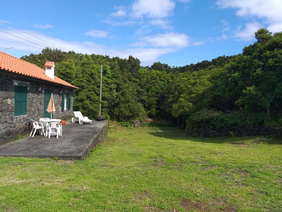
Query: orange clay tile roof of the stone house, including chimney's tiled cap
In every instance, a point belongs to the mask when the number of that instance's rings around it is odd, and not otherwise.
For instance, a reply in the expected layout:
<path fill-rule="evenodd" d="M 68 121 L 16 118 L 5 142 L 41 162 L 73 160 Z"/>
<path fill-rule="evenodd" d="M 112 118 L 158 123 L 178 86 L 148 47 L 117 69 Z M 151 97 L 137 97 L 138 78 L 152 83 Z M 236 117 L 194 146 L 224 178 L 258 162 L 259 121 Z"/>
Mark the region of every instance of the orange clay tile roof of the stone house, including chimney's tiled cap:
<path fill-rule="evenodd" d="M 54 64 L 54 62 L 49 62 L 49 63 L 52 63 L 52 65 Z M 48 82 L 53 82 L 53 83 L 71 87 L 71 88 L 78 88 L 56 76 L 54 76 L 54 80 L 53 80 L 52 78 L 45 75 L 44 69 L 38 67 L 37 65 L 29 63 L 25 60 L 21 60 L 19 58 L 16 58 L 10 54 L 6 54 L 1 51 L 0 51 L 0 69 L 3 69 L 5 71 L 10 71 L 13 73 L 17 73 L 17 74 L 21 74 L 21 75 L 25 75 L 28 77 L 45 80 Z"/>

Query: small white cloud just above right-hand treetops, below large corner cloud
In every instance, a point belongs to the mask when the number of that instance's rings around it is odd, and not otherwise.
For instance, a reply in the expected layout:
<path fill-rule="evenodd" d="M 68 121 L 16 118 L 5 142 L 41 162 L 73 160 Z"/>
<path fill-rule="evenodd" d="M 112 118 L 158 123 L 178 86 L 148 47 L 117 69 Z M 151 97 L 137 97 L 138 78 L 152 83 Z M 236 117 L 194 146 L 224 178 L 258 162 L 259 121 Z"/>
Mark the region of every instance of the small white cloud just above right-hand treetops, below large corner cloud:
<path fill-rule="evenodd" d="M 238 27 L 234 32 L 234 38 L 236 40 L 253 40 L 255 38 L 255 32 L 261 28 L 261 24 L 258 22 L 246 23 L 245 29 L 241 30 L 241 27 Z"/>

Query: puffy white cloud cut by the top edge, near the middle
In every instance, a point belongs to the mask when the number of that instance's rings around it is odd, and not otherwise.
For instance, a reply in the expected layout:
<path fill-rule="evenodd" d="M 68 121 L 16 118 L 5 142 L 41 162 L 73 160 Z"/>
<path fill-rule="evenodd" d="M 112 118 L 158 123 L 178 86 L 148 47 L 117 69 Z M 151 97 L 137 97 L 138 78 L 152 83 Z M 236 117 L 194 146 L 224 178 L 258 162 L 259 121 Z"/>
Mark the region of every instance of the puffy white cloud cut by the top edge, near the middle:
<path fill-rule="evenodd" d="M 172 15 L 174 7 L 175 2 L 172 0 L 136 0 L 131 15 L 136 18 L 165 18 Z"/>

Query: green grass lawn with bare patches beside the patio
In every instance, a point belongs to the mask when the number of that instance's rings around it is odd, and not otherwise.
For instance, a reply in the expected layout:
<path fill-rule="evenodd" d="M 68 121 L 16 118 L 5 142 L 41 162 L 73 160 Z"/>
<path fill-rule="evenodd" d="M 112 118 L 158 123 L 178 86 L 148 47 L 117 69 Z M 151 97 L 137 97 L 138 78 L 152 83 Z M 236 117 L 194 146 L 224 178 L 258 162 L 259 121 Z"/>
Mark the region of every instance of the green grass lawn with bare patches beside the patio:
<path fill-rule="evenodd" d="M 0 158 L 0 211 L 282 208 L 282 144 L 109 129 L 84 161 Z"/>

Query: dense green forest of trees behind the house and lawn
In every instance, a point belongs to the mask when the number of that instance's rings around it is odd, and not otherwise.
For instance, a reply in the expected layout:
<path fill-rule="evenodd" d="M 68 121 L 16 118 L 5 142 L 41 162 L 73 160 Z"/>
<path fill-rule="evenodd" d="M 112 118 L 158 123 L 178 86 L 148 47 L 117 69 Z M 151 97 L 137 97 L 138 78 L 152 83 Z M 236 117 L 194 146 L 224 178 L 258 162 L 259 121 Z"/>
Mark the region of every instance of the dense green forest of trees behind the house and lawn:
<path fill-rule="evenodd" d="M 155 62 L 141 67 L 137 58 L 110 58 L 43 49 L 21 59 L 45 68 L 79 87 L 74 110 L 95 119 L 99 113 L 100 64 L 103 62 L 102 114 L 128 121 L 147 117 L 179 126 L 282 125 L 282 32 L 255 32 L 256 42 L 241 54 L 219 56 L 183 67 Z"/>

